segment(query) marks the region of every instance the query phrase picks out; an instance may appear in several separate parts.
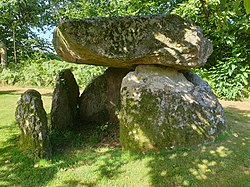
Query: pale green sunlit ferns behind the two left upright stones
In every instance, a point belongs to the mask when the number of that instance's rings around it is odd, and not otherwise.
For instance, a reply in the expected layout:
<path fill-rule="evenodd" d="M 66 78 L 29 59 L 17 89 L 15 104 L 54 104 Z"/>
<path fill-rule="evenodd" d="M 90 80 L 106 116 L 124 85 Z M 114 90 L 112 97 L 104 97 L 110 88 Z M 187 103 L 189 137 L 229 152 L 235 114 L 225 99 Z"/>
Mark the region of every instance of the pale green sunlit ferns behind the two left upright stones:
<path fill-rule="evenodd" d="M 0 82 L 10 85 L 32 85 L 53 87 L 56 76 L 63 69 L 71 69 L 76 81 L 84 88 L 90 80 L 104 72 L 101 66 L 77 65 L 59 60 L 47 60 L 40 56 L 20 63 L 10 63 L 9 67 L 2 70 Z"/>

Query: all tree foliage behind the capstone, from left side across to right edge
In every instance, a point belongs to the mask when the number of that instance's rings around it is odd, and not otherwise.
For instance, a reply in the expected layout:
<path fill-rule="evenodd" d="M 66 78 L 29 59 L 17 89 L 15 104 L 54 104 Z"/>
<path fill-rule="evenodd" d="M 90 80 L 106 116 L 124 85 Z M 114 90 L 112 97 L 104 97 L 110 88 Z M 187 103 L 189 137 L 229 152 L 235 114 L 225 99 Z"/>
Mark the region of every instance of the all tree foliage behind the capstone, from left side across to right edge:
<path fill-rule="evenodd" d="M 250 90 L 249 0 L 0 0 L 0 29 L 4 31 L 0 40 L 9 56 L 20 59 L 49 48 L 34 28 L 43 32 L 71 18 L 165 13 L 194 21 L 212 40 L 214 52 L 200 74 L 220 97 L 237 99 Z"/>

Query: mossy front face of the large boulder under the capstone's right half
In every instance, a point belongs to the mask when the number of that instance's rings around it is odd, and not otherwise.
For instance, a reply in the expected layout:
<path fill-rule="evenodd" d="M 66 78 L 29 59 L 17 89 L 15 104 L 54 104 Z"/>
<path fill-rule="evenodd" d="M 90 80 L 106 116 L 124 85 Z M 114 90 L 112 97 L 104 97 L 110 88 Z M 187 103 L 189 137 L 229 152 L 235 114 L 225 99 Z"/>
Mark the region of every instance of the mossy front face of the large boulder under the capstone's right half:
<path fill-rule="evenodd" d="M 155 68 L 147 70 L 151 71 Z M 171 72 L 164 76 L 170 74 Z M 152 80 L 151 73 L 145 71 L 143 75 Z M 178 83 L 174 80 L 170 81 L 170 86 L 174 87 L 172 90 L 169 88 L 164 88 L 167 91 L 157 90 L 156 87 L 149 89 L 152 86 L 145 83 L 147 78 L 143 75 L 137 72 L 137 76 L 141 79 L 133 77 L 132 74 L 128 75 L 126 80 L 137 81 L 137 83 L 129 84 L 125 83 L 124 80 L 124 87 L 121 90 L 120 140 L 125 149 L 158 151 L 169 148 L 193 147 L 213 141 L 221 132 L 221 130 L 213 130 L 213 128 L 224 126 L 223 122 L 218 121 L 223 118 L 216 116 L 216 105 L 213 107 L 201 105 L 198 102 L 199 99 L 192 95 L 195 90 L 194 85 L 190 84 L 186 87 L 190 92 L 189 95 L 187 95 L 186 90 L 180 91 L 177 88 L 178 85 L 175 85 L 184 84 L 184 82 Z M 175 77 L 175 74 L 173 75 Z M 178 76 L 177 79 L 181 80 Z M 142 86 L 143 84 L 139 80 L 144 81 L 145 85 Z M 190 86 L 193 89 L 190 89 Z M 161 87 L 159 86 L 159 88 Z M 199 97 L 205 99 L 205 96 L 206 94 L 200 91 Z M 190 97 L 189 100 L 188 97 Z"/>

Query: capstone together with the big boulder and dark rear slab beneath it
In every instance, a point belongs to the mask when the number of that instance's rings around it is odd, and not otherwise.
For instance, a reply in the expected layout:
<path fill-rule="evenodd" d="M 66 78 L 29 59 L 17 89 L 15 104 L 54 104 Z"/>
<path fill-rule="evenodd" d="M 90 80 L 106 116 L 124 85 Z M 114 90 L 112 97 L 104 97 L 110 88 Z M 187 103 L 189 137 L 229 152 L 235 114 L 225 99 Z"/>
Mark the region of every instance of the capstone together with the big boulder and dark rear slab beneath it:
<path fill-rule="evenodd" d="M 79 97 L 79 124 L 118 122 L 125 150 L 193 147 L 226 129 L 217 97 L 190 70 L 213 51 L 192 22 L 177 15 L 67 20 L 53 44 L 65 61 L 109 67 Z"/>

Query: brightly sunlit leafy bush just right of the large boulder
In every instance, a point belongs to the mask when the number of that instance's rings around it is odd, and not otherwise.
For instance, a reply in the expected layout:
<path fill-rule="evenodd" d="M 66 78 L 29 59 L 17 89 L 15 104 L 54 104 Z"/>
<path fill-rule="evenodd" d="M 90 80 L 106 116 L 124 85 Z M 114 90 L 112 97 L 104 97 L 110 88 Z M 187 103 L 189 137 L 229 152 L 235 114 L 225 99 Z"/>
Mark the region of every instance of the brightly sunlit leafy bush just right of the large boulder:
<path fill-rule="evenodd" d="M 242 59 L 231 58 L 207 69 L 198 69 L 196 73 L 210 82 L 216 95 L 225 100 L 249 98 L 250 66 L 239 63 Z"/>

